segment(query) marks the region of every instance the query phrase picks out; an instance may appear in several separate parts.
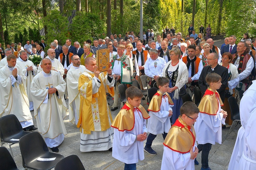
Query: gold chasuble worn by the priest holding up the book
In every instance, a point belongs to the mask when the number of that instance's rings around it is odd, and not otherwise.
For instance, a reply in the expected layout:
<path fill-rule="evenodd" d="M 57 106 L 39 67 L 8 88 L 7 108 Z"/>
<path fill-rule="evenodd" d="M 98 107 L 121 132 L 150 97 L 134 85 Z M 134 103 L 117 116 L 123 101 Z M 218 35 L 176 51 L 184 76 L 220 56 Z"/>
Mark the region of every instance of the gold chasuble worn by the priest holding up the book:
<path fill-rule="evenodd" d="M 78 90 L 80 92 L 80 118 L 76 127 L 80 127 L 81 133 L 82 129 L 84 134 L 91 134 L 91 131 L 105 131 L 110 128 L 110 125 L 113 121 L 108 103 L 106 101 L 105 86 L 112 96 L 114 95 L 114 88 L 109 88 L 109 86 L 103 82 L 102 78 L 104 78 L 104 76 L 104 73 L 100 73 L 99 79 L 101 81 L 101 86 L 99 91 L 95 94 L 92 94 L 92 78 L 94 77 L 94 73 L 85 71 L 79 77 Z M 85 89 L 84 85 L 86 85 L 86 93 L 80 91 L 81 87 Z M 84 97 L 84 95 L 86 97 Z M 96 101 L 96 98 L 98 102 Z M 109 120 L 111 122 L 109 122 Z M 96 122 L 100 123 L 100 130 L 95 129 Z"/>

